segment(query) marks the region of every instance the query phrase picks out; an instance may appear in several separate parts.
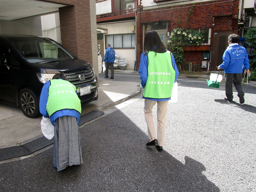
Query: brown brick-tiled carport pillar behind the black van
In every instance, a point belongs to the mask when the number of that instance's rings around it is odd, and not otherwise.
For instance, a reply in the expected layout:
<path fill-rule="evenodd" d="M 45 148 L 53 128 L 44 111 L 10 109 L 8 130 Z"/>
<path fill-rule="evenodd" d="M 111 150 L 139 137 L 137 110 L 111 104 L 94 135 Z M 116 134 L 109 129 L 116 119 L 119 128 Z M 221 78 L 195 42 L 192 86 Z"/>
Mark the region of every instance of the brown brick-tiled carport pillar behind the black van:
<path fill-rule="evenodd" d="M 90 0 L 40 0 L 68 5 L 59 8 L 61 44 L 79 59 L 92 64 Z"/>

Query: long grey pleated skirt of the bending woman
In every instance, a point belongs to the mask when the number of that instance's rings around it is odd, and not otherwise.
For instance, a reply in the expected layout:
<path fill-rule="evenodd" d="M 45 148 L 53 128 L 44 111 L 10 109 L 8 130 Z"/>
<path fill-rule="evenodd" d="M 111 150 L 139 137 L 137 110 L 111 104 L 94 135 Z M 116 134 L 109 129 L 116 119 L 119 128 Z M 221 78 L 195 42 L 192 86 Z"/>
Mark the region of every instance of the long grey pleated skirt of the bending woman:
<path fill-rule="evenodd" d="M 61 171 L 83 163 L 81 137 L 76 117 L 62 116 L 55 120 L 53 166 Z"/>

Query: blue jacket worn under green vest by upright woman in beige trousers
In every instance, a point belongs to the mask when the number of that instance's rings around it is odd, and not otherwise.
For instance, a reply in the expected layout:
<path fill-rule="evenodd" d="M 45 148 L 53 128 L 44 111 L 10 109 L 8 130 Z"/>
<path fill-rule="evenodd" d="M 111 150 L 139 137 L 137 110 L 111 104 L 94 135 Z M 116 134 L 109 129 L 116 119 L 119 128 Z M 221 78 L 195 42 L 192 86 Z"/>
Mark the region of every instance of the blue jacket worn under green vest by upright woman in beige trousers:
<path fill-rule="evenodd" d="M 174 57 L 171 53 L 172 56 L 172 66 L 175 70 L 175 80 L 174 83 L 177 81 L 178 76 L 179 76 L 179 70 L 177 68 L 177 65 L 175 63 Z M 141 54 L 140 56 L 140 68 L 139 68 L 139 74 L 140 74 L 140 79 L 141 79 L 141 86 L 144 87 L 147 83 L 148 80 L 148 55 L 144 55 L 144 53 Z M 144 98 L 142 96 L 142 98 Z M 144 98 L 144 99 L 149 99 L 149 98 Z M 154 100 L 154 101 L 166 101 L 166 100 L 170 100 L 171 98 L 167 98 L 167 99 L 154 99 L 154 98 L 150 98 L 149 100 Z"/>

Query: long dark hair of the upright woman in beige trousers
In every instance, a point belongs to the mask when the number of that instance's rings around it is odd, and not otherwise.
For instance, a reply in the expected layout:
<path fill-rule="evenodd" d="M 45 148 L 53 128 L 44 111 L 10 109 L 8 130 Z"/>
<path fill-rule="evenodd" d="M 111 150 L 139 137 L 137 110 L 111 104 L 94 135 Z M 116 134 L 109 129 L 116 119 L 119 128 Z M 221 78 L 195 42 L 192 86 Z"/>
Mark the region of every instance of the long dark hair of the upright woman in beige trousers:
<path fill-rule="evenodd" d="M 166 51 L 166 47 L 162 43 L 156 31 L 148 31 L 145 35 L 144 51 L 144 55 L 147 55 L 149 51 L 154 51 L 156 53 L 163 53 Z"/>

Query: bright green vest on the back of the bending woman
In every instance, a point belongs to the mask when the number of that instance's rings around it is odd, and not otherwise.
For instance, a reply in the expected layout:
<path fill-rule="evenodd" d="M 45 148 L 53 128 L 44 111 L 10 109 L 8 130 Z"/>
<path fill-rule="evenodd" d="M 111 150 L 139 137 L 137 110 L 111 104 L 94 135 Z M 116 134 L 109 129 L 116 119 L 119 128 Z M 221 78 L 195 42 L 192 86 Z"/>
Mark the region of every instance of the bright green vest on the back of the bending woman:
<path fill-rule="evenodd" d="M 74 109 L 81 114 L 81 101 L 76 94 L 76 86 L 63 79 L 50 80 L 46 110 L 51 116 L 63 109 Z"/>

